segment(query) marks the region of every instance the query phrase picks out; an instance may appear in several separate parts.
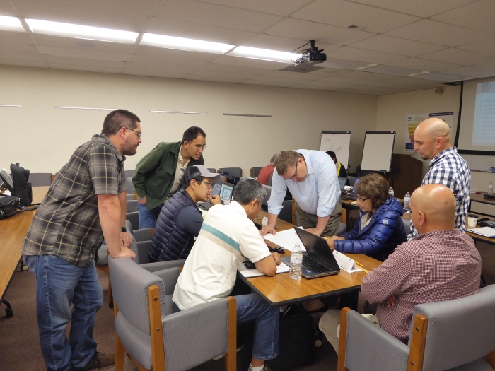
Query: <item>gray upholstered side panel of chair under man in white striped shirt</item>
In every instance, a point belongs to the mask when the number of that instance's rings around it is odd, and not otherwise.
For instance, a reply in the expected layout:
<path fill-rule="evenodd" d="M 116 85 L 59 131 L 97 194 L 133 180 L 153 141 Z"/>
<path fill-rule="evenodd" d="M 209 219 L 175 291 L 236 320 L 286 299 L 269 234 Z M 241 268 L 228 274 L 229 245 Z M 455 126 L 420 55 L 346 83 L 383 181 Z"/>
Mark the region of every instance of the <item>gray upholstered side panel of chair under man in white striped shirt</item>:
<path fill-rule="evenodd" d="M 235 300 L 234 300 L 235 305 Z M 162 318 L 165 360 L 170 370 L 190 370 L 227 353 L 228 300 L 197 305 Z"/>

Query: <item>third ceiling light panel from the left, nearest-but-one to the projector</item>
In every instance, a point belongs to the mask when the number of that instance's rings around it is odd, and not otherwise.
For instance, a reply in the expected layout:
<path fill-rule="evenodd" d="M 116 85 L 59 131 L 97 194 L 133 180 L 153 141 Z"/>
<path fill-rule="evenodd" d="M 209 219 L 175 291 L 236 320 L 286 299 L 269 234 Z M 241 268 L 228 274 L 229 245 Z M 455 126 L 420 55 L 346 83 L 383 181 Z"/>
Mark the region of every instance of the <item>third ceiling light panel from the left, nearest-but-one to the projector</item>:
<path fill-rule="evenodd" d="M 163 47 L 165 49 L 215 54 L 224 54 L 235 47 L 235 45 L 222 44 L 221 42 L 186 39 L 185 37 L 157 35 L 155 33 L 144 33 L 139 44 L 148 45 L 149 47 Z"/>

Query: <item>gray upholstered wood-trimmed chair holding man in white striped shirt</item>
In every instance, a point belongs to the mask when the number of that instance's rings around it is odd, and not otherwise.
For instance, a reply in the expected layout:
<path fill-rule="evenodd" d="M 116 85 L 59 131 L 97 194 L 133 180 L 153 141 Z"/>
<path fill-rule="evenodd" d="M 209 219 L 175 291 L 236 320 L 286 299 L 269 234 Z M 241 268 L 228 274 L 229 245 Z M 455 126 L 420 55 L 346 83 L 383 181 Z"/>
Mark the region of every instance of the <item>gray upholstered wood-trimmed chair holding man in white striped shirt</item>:
<path fill-rule="evenodd" d="M 185 371 L 225 354 L 236 367 L 235 298 L 175 313 L 172 295 L 179 268 L 151 273 L 129 258 L 109 259 L 114 282 L 115 370 L 128 353 L 139 370 Z"/>

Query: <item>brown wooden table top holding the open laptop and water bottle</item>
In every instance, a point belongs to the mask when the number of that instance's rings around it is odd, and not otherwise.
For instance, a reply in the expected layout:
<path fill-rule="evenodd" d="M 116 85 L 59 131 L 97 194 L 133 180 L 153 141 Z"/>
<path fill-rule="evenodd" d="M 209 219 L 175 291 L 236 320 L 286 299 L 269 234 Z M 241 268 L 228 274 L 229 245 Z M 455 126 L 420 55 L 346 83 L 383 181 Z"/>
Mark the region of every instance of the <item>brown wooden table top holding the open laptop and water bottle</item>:
<path fill-rule="evenodd" d="M 268 214 L 260 211 L 256 222 L 262 220 Z M 291 223 L 278 219 L 276 221 L 276 231 L 288 230 L 293 228 Z M 271 245 L 274 245 L 271 243 Z M 285 254 L 291 252 L 285 250 Z M 360 264 L 363 264 L 363 269 L 371 271 L 380 266 L 381 262 L 364 254 L 346 254 L 351 259 L 354 259 Z M 359 267 L 361 268 L 361 267 Z M 364 276 L 368 274 L 365 271 L 355 273 L 347 273 L 341 269 L 340 273 L 334 276 L 322 278 L 306 279 L 301 278 L 300 281 L 291 280 L 289 273 L 279 273 L 274 277 L 259 276 L 254 278 L 245 278 L 240 275 L 240 278 L 247 283 L 252 290 L 261 295 L 264 300 L 267 300 L 270 305 L 281 306 L 289 305 L 296 302 L 304 302 L 311 299 L 324 298 L 331 295 L 340 295 L 349 293 L 361 288 L 361 283 Z"/>

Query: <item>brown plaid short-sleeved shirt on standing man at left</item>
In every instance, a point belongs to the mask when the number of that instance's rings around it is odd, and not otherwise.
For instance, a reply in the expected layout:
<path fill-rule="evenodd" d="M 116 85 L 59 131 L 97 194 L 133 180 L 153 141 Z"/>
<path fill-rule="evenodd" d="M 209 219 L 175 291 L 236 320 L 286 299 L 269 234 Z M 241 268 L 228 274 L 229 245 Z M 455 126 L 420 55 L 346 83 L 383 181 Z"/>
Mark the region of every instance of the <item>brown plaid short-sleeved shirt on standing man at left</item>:
<path fill-rule="evenodd" d="M 21 249 L 25 255 L 55 255 L 91 265 L 103 242 L 98 194 L 127 191 L 125 157 L 105 134 L 76 149 L 37 209 Z"/>

